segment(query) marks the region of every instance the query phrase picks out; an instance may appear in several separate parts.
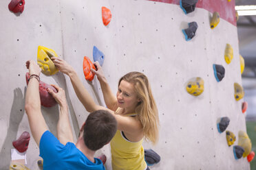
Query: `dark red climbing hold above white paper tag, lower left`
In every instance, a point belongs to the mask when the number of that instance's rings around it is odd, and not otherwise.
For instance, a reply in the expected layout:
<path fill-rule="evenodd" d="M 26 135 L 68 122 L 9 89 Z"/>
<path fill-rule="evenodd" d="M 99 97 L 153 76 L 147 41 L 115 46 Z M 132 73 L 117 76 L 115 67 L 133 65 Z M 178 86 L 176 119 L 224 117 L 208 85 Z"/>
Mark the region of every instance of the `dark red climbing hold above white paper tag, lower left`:
<path fill-rule="evenodd" d="M 23 132 L 21 136 L 16 141 L 12 142 L 12 145 L 19 152 L 24 152 L 28 149 L 28 144 L 30 143 L 30 133 Z"/>

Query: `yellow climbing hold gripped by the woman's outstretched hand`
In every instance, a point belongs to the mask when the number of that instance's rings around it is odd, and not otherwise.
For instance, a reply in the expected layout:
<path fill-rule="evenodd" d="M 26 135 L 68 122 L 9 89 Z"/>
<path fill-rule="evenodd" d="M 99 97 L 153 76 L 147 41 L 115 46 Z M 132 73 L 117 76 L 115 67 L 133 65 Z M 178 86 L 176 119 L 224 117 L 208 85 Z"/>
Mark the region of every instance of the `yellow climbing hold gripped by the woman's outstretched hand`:
<path fill-rule="evenodd" d="M 52 57 L 58 57 L 54 50 L 39 46 L 37 49 L 37 64 L 39 64 L 42 73 L 45 75 L 54 75 L 58 72 L 54 62 L 51 60 Z"/>

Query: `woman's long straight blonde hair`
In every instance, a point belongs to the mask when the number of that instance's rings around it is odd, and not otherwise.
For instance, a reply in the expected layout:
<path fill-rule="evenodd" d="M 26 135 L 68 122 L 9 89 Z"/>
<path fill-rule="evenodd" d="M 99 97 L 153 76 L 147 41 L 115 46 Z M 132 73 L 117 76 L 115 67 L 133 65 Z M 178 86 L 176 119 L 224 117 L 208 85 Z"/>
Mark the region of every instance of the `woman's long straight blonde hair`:
<path fill-rule="evenodd" d="M 138 96 L 138 99 L 140 99 L 140 102 L 135 109 L 138 114 L 137 118 L 143 125 L 146 141 L 151 141 L 153 144 L 156 144 L 159 136 L 158 108 L 156 107 L 156 101 L 153 98 L 147 76 L 136 71 L 127 73 L 120 78 L 118 86 L 122 80 L 134 84 L 136 95 Z"/>

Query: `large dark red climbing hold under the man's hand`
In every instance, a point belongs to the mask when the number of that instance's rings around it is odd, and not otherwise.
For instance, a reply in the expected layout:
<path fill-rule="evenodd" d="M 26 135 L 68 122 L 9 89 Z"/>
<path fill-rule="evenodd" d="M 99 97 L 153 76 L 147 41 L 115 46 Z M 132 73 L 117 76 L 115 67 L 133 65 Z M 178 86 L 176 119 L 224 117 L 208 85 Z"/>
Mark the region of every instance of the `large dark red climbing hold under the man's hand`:
<path fill-rule="evenodd" d="M 25 75 L 27 85 L 28 85 L 28 79 L 30 78 L 30 73 L 26 73 Z M 49 84 L 46 84 L 45 82 L 40 81 L 39 82 L 39 95 L 41 100 L 41 105 L 45 106 L 47 108 L 52 107 L 57 104 L 56 100 L 50 93 L 47 92 L 47 88 L 50 88 L 54 91 L 54 93 L 57 93 L 56 88 L 53 86 L 50 86 Z"/>

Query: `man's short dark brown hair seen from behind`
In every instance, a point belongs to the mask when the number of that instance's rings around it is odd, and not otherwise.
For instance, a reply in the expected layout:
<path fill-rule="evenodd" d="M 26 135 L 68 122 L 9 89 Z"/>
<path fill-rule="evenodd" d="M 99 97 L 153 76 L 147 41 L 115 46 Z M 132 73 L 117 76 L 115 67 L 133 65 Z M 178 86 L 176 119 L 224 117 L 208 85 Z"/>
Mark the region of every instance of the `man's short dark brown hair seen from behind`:
<path fill-rule="evenodd" d="M 116 118 L 107 110 L 96 110 L 90 113 L 85 121 L 83 140 L 85 145 L 96 151 L 109 143 L 116 134 Z"/>

